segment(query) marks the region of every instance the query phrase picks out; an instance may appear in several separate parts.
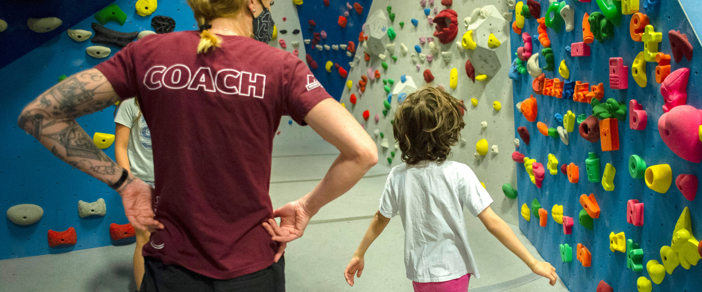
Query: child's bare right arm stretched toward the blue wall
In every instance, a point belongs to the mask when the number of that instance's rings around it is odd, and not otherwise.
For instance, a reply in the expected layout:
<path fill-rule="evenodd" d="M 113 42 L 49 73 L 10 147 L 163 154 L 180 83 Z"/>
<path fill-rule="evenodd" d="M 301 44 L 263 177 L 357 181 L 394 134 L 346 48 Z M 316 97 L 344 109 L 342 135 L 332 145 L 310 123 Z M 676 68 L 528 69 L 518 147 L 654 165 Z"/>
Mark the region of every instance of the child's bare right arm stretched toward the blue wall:
<path fill-rule="evenodd" d="M 531 256 L 531 253 L 527 251 L 524 244 L 519 242 L 515 232 L 512 231 L 510 226 L 507 225 L 500 216 L 495 214 L 495 211 L 492 211 L 492 208 L 489 206 L 485 208 L 478 214 L 478 218 L 480 218 L 480 221 L 482 221 L 483 225 L 485 225 L 487 230 L 494 235 L 494 237 L 527 264 L 531 272 L 548 278 L 551 286 L 556 284 L 558 275 L 556 274 L 555 267 L 552 267 L 550 263 L 538 261 L 534 256 Z"/>

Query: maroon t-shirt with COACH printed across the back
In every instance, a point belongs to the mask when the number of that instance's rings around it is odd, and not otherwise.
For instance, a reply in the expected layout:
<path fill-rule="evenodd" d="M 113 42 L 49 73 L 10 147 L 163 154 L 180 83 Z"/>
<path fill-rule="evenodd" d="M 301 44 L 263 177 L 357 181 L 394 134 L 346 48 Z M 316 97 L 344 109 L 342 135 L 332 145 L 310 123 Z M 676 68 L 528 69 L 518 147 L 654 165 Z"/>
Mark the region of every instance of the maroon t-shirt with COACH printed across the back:
<path fill-rule="evenodd" d="M 281 116 L 305 125 L 331 98 L 284 50 L 242 36 L 197 55 L 199 32 L 152 34 L 95 66 L 122 99 L 138 97 L 151 130 L 156 219 L 144 256 L 215 279 L 272 265 L 261 223 Z"/>

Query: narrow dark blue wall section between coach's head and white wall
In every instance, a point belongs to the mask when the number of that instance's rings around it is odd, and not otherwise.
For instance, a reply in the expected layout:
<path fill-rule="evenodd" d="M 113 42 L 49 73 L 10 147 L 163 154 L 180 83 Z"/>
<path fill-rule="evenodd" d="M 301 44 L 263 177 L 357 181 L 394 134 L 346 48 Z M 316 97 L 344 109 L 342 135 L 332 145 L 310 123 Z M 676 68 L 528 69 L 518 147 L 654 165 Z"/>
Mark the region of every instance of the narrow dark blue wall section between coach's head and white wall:
<path fill-rule="evenodd" d="M 360 15 L 356 13 L 354 8 L 348 9 L 346 6 L 347 1 L 340 0 L 330 0 L 329 6 L 324 6 L 322 0 L 308 0 L 304 1 L 303 5 L 298 6 L 298 17 L 300 18 L 300 27 L 302 27 L 302 34 L 305 39 L 312 39 L 314 32 L 326 32 L 326 39 L 319 41 L 319 45 L 339 45 L 346 44 L 349 41 L 353 41 L 356 46 L 356 50 L 363 50 L 359 48 L 358 35 L 363 29 L 363 25 L 366 22 L 366 17 L 368 12 L 371 10 L 372 0 L 359 0 L 359 4 L 363 6 L 363 13 Z M 352 2 L 349 2 L 353 6 Z M 345 11 L 348 11 L 349 16 L 346 17 L 347 25 L 346 27 L 340 27 L 338 25 L 338 19 L 340 15 L 343 15 Z M 310 27 L 308 21 L 314 20 L 316 26 Z M 304 45 L 307 54 L 312 56 L 312 60 L 317 62 L 317 69 L 312 69 L 312 74 L 317 78 L 319 83 L 322 83 L 324 89 L 329 92 L 329 95 L 334 97 L 334 99 L 339 100 L 341 94 L 343 93 L 343 88 L 346 83 L 346 78 L 341 77 L 336 68 L 331 67 L 331 72 L 327 72 L 324 64 L 327 61 L 332 63 L 338 63 L 346 71 L 350 71 L 349 62 L 353 60 L 355 53 L 348 57 L 346 55 L 346 50 L 317 50 L 310 44 L 301 43 L 300 46 Z M 303 60 L 305 59 L 302 56 Z"/>

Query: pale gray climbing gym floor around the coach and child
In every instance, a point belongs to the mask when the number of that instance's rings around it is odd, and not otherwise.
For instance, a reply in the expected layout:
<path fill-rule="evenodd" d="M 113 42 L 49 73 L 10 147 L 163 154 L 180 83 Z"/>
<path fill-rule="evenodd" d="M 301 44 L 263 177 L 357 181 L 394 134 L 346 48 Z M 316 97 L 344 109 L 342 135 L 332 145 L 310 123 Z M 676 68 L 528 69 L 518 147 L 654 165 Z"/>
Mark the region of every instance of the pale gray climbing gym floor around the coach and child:
<path fill-rule="evenodd" d="M 318 152 L 312 155 L 277 149 L 270 188 L 273 207 L 281 207 L 312 190 L 336 158 L 336 149 L 328 144 L 312 147 Z M 348 286 L 343 278 L 343 270 L 378 208 L 389 171 L 385 164 L 373 167 L 352 190 L 319 211 L 302 238 L 289 244 L 287 291 L 412 291 L 411 281 L 405 277 L 404 231 L 399 217 L 390 221 L 366 253 L 366 269 L 355 286 Z M 547 279 L 531 273 L 470 212 L 464 211 L 464 216 L 482 275 L 471 279 L 469 291 L 568 291 L 561 281 L 549 286 Z M 519 228 L 511 227 L 527 249 L 541 258 Z M 129 244 L 0 260 L 0 291 L 135 291 L 133 250 L 134 244 Z"/>

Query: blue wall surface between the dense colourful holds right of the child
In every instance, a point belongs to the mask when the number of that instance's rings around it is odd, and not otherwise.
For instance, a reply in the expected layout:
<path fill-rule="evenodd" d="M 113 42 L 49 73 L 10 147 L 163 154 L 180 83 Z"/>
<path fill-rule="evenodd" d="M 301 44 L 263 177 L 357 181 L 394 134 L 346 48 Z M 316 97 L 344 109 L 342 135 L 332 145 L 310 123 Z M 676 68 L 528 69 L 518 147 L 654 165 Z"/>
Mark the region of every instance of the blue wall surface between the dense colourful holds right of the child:
<path fill-rule="evenodd" d="M 681 0 L 682 1 L 682 0 Z M 524 1 L 526 3 L 526 1 Z M 548 8 L 548 0 L 541 0 L 541 16 Z M 640 1 L 643 4 L 643 0 Z M 570 144 L 567 146 L 552 137 L 543 136 L 538 132 L 536 122 L 541 121 L 549 127 L 557 127 L 558 123 L 554 118 L 555 113 L 565 114 L 572 111 L 578 116 L 585 113 L 588 116 L 592 113 L 590 104 L 574 102 L 572 99 L 557 99 L 536 95 L 531 88 L 534 78 L 527 75 L 520 76 L 513 83 L 513 93 L 515 104 L 527 99 L 534 94 L 538 101 L 538 116 L 534 123 L 515 111 L 515 129 L 525 126 L 531 134 L 531 144 L 527 146 L 520 144 L 517 151 L 524 153 L 529 158 L 534 158 L 541 162 L 544 167 L 547 162 L 547 155 L 553 153 L 560 165 L 574 162 L 580 168 L 580 180 L 578 183 L 569 183 L 567 176 L 560 171 L 557 175 L 545 174 L 542 188 L 536 188 L 529 180 L 529 175 L 524 170 L 522 163 L 518 163 L 517 179 L 519 181 L 519 206 L 527 203 L 531 207 L 531 200 L 534 198 L 541 202 L 541 206 L 548 210 L 548 225 L 541 227 L 538 218 L 531 216 L 531 221 L 524 221 L 519 217 L 519 229 L 536 246 L 541 256 L 556 267 L 559 277 L 568 286 L 570 291 L 584 292 L 595 291 L 600 280 L 606 281 L 614 288 L 614 291 L 637 291 L 636 282 L 639 277 L 651 279 L 646 271 L 646 263 L 649 260 L 661 262 L 659 251 L 661 246 L 670 246 L 673 235 L 673 228 L 684 207 L 689 207 L 691 211 L 692 233 L 697 239 L 702 239 L 702 195 L 698 191 L 696 200 L 686 200 L 677 188 L 675 183 L 670 186 L 667 193 L 656 193 L 647 188 L 644 179 L 633 179 L 628 172 L 628 160 L 630 155 L 640 155 L 647 166 L 668 164 L 673 169 L 673 180 L 679 174 L 695 174 L 702 177 L 702 165 L 683 160 L 670 151 L 665 146 L 658 134 L 658 118 L 663 114 L 663 97 L 660 92 L 660 84 L 655 82 L 654 71 L 656 63 L 647 64 L 648 83 L 645 88 L 640 88 L 630 74 L 631 64 L 637 55 L 644 48 L 641 42 L 635 42 L 629 34 L 629 22 L 631 15 L 623 15 L 621 25 L 615 28 L 615 38 L 599 43 L 597 41 L 590 44 L 591 55 L 589 57 L 571 57 L 564 50 L 571 43 L 583 41 L 582 25 L 583 13 L 600 11 L 595 0 L 590 3 L 579 1 L 567 1 L 575 10 L 575 29 L 572 32 L 565 32 L 565 29 L 556 34 L 552 29 L 548 29 L 548 36 L 551 41 L 551 48 L 555 54 L 554 72 L 544 71 L 546 78 L 563 79 L 557 72 L 558 64 L 565 60 L 570 69 L 570 81 L 589 82 L 590 85 L 604 83 L 604 98 L 614 98 L 620 102 L 628 102 L 637 99 L 642 104 L 643 109 L 648 113 L 648 124 L 645 130 L 631 130 L 627 120 L 618 123 L 620 149 L 618 151 L 603 152 L 600 142 L 590 143 L 578 134 L 576 130 L 570 133 Z M 643 11 L 641 5 L 640 11 Z M 688 15 L 690 15 L 688 13 Z M 691 16 L 691 15 L 690 15 Z M 671 62 L 671 71 L 687 67 L 691 69 L 689 82 L 687 85 L 687 104 L 697 109 L 702 109 L 702 98 L 698 92 L 702 92 L 702 48 L 696 38 L 690 22 L 677 0 L 661 0 L 658 8 L 658 15 L 651 17 L 651 25 L 656 32 L 663 32 L 663 41 L 658 46 L 658 51 L 673 56 L 668 41 L 668 31 L 670 29 L 680 30 L 694 46 L 694 59 L 690 62 L 684 59 L 680 63 L 675 60 Z M 538 35 L 536 28 L 538 23 L 534 18 L 527 19 L 522 32 L 529 32 L 532 36 Z M 519 46 L 524 46 L 521 36 L 511 32 L 512 53 L 517 51 Z M 543 47 L 538 41 L 534 41 L 534 53 L 540 52 Z M 512 56 L 513 58 L 514 56 Z M 612 90 L 609 88 L 609 57 L 623 57 L 625 65 L 629 66 L 629 87 L 627 90 Z M 539 57 L 539 63 L 543 67 L 545 60 Z M 600 182 L 591 183 L 585 173 L 585 158 L 588 152 L 597 153 L 600 157 L 600 167 L 604 171 L 604 166 L 609 162 L 616 168 L 614 177 L 614 191 L 605 191 Z M 595 218 L 594 230 L 588 230 L 578 224 L 578 213 L 581 204 L 578 202 L 580 195 L 594 193 L 597 202 L 600 204 L 602 213 L 600 218 Z M 626 221 L 626 203 L 628 200 L 637 199 L 644 203 L 644 225 L 634 226 Z M 562 204 L 564 216 L 574 218 L 575 224 L 571 235 L 564 235 L 562 225 L 555 223 L 550 218 L 551 207 L 554 204 Z M 625 232 L 626 239 L 633 239 L 640 244 L 644 251 L 642 272 L 633 272 L 626 267 L 625 253 L 609 250 L 609 233 Z M 559 244 L 567 243 L 573 248 L 573 261 L 562 263 L 559 253 Z M 584 244 L 592 253 L 592 265 L 583 267 L 576 260 L 576 244 Z M 673 274 L 665 274 L 665 279 L 659 285 L 653 284 L 653 291 L 700 291 L 702 284 L 702 261 L 698 265 L 685 270 L 678 266 Z"/>

